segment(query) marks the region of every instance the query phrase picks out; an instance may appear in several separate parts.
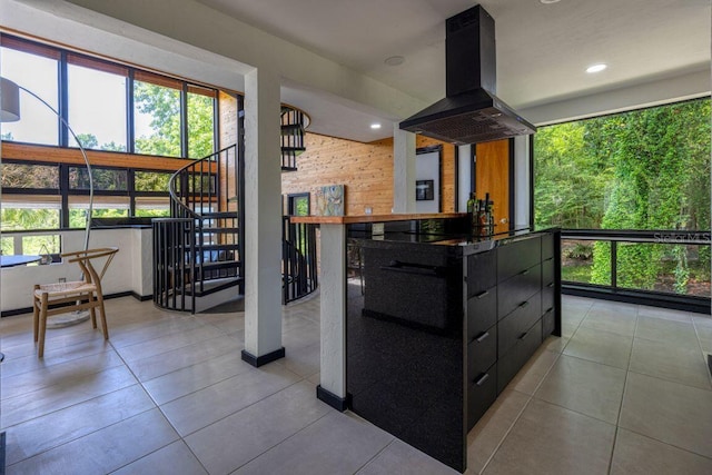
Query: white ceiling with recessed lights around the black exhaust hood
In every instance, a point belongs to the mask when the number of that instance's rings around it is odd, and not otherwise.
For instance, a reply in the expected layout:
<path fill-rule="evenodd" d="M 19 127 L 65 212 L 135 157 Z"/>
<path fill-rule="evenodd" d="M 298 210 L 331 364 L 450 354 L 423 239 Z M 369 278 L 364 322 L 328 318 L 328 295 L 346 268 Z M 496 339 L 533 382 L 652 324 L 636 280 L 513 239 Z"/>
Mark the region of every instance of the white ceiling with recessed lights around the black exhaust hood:
<path fill-rule="evenodd" d="M 445 96 L 445 20 L 472 0 L 198 0 L 413 97 Z M 482 0 L 495 19 L 497 96 L 516 109 L 710 71 L 710 0 Z M 403 56 L 405 62 L 384 60 Z M 609 69 L 584 70 L 595 62 Z M 312 130 L 368 141 L 393 119 L 287 87 Z M 672 99 L 672 98 L 671 98 Z M 364 121 L 380 120 L 382 131 Z M 390 119 L 390 120 L 389 120 Z M 396 121 L 398 118 L 395 118 Z"/>

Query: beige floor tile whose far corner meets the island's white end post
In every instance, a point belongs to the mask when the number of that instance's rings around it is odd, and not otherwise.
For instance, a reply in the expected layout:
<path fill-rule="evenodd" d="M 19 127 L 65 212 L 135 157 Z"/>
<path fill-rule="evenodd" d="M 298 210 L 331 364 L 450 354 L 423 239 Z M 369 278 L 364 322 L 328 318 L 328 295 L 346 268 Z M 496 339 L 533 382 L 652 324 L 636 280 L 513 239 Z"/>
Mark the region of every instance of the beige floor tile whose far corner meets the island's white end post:
<path fill-rule="evenodd" d="M 300 382 L 189 435 L 186 442 L 209 473 L 227 474 L 332 410 L 315 397 L 312 384 Z"/>

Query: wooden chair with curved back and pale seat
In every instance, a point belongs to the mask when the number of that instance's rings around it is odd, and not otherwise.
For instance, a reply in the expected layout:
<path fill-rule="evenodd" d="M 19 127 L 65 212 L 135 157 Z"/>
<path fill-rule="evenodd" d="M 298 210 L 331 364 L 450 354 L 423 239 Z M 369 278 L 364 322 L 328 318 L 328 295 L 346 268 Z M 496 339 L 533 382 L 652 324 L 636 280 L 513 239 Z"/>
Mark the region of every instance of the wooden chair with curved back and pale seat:
<path fill-rule="evenodd" d="M 103 309 L 103 294 L 101 293 L 101 278 L 118 251 L 118 247 L 106 247 L 79 250 L 76 253 L 63 253 L 60 255 L 62 258 L 69 258 L 69 263 L 77 263 L 79 265 L 82 279 L 69 283 L 34 285 L 32 307 L 34 308 L 34 342 L 39 339 L 38 357 L 42 358 L 44 356 L 47 317 L 52 315 L 89 309 L 91 324 L 97 328 L 97 314 L 95 309 L 99 307 L 103 338 L 109 339 L 107 316 Z M 98 264 L 101 263 L 101 260 L 103 260 L 103 266 L 101 267 L 101 271 L 98 273 L 96 267 L 99 267 Z"/>

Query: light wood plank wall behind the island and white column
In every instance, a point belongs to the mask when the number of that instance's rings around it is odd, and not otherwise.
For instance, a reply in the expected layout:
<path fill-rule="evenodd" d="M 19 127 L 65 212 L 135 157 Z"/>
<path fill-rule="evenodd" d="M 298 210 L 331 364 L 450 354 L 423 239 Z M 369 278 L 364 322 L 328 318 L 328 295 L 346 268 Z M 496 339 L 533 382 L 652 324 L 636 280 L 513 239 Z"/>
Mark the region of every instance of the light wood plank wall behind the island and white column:
<path fill-rule="evenodd" d="M 283 195 L 314 194 L 327 185 L 346 185 L 346 214 L 388 215 L 393 208 L 393 139 L 369 144 L 306 133 L 306 151 L 297 157 L 297 171 L 281 174 Z M 417 137 L 416 147 L 443 145 L 443 212 L 455 209 L 455 147 Z M 286 206 L 285 206 L 286 209 Z"/>

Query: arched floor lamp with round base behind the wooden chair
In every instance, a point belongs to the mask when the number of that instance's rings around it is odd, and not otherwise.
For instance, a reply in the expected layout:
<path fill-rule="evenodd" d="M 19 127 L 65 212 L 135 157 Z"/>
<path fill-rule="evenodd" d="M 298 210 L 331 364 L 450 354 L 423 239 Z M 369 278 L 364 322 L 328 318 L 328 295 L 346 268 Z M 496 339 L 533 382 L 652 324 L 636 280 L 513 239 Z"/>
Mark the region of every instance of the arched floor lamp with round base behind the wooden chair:
<path fill-rule="evenodd" d="M 32 92 L 31 90 L 23 88 L 22 86 L 18 86 L 9 79 L 0 77 L 0 122 L 16 122 L 20 120 L 20 90 L 29 93 L 34 99 L 42 102 L 49 110 L 55 112 L 55 115 L 59 118 L 69 133 L 75 138 L 77 145 L 79 146 L 79 151 L 81 152 L 81 157 L 85 159 L 85 164 L 87 165 L 87 174 L 89 175 L 89 210 L 87 211 L 87 224 L 85 227 L 85 250 L 89 249 L 89 232 L 91 231 L 91 214 L 93 211 L 93 177 L 91 176 L 91 164 L 89 164 L 89 158 L 87 157 L 87 151 L 85 150 L 81 141 L 77 138 L 75 131 L 69 127 L 69 123 L 65 118 L 44 99 Z M 58 320 L 52 325 L 48 325 L 48 328 L 51 327 L 63 327 L 68 325 L 78 324 L 81 321 L 86 321 L 89 318 L 88 311 L 77 311 L 72 315 L 69 315 L 67 318 Z"/>

